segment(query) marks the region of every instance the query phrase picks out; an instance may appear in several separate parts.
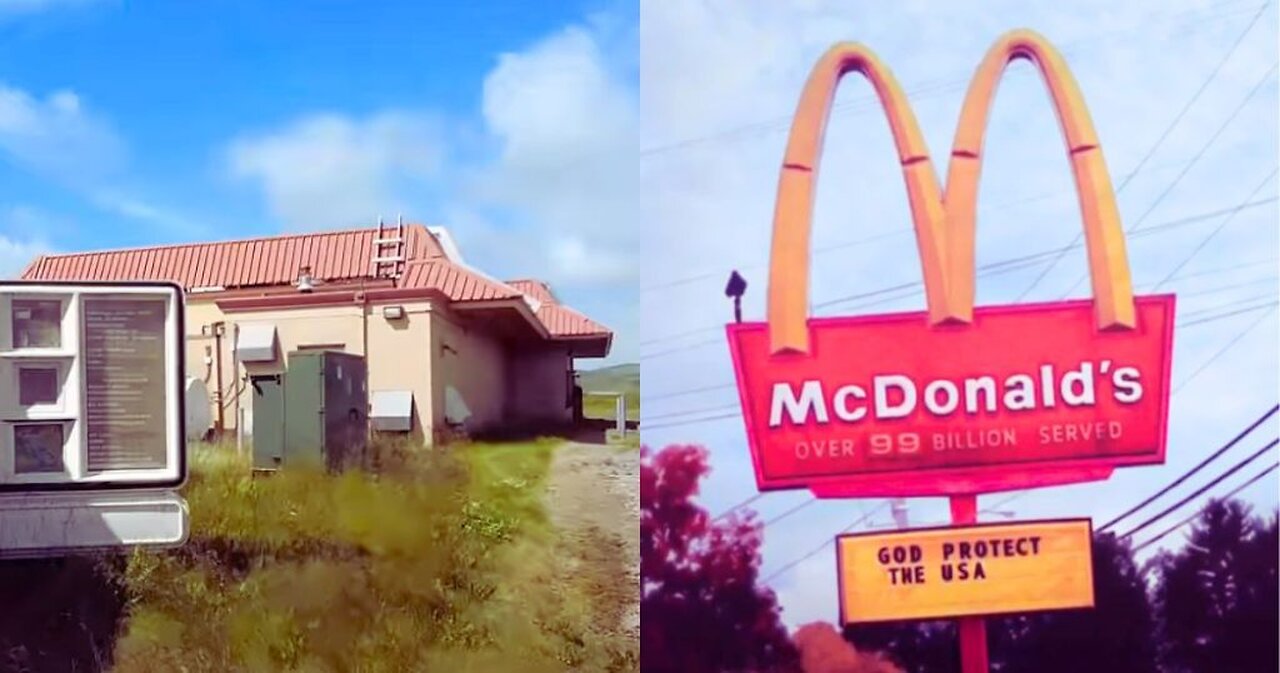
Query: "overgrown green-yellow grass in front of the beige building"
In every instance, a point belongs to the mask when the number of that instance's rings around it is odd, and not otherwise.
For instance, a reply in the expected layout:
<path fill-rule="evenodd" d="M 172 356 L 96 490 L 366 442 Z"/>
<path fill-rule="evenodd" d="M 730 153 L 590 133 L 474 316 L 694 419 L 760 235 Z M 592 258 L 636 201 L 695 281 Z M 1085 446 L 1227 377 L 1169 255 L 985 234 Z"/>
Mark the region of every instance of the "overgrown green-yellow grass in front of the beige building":
<path fill-rule="evenodd" d="M 116 670 L 636 669 L 557 572 L 556 445 L 381 447 L 376 473 L 266 477 L 195 452 L 191 540 L 124 569 Z"/>

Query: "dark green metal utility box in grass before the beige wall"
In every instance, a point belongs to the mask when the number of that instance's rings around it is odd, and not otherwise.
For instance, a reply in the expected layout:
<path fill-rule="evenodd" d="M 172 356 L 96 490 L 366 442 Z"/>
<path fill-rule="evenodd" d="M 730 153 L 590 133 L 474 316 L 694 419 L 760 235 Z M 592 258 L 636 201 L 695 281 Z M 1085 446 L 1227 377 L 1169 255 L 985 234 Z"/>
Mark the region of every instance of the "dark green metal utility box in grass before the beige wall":
<path fill-rule="evenodd" d="M 338 351 L 289 353 L 284 372 L 285 461 L 340 471 L 362 466 L 367 445 L 365 358 Z"/>

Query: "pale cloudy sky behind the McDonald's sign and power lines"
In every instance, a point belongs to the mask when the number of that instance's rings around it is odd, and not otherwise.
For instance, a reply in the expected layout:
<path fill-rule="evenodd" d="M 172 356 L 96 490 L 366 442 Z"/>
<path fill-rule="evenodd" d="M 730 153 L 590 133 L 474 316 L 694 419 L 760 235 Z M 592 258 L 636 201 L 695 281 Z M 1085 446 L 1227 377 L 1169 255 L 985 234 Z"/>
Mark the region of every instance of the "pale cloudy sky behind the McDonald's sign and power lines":
<path fill-rule="evenodd" d="M 1112 182 L 1119 186 L 1133 173 L 1117 196 L 1124 225 L 1192 218 L 1128 242 L 1138 292 L 1151 292 L 1170 276 L 1161 292 L 1179 296 L 1178 311 L 1188 324 L 1174 335 L 1172 380 L 1181 389 L 1171 400 L 1166 464 L 1120 470 L 1101 484 L 1029 491 L 1007 503 L 1005 494 L 983 496 L 980 508 L 1005 512 L 983 518 L 1092 516 L 1102 523 L 1189 470 L 1275 404 L 1280 385 L 1274 306 L 1280 264 L 1280 31 L 1275 5 L 1263 5 L 749 0 L 730 9 L 646 1 L 640 132 L 643 215 L 650 223 L 640 281 L 645 443 L 696 443 L 710 450 L 713 472 L 701 499 L 713 513 L 756 493 L 723 335 L 723 322 L 732 317 L 723 288 L 730 270 L 740 270 L 749 283 L 744 317 L 763 319 L 778 168 L 801 84 L 818 56 L 840 40 L 876 50 L 911 99 L 934 168 L 945 175 L 974 68 L 1000 33 L 1027 27 L 1064 52 Z M 1172 124 L 1202 86 L 1198 100 Z M 814 315 L 924 308 L 913 285 L 920 269 L 895 159 L 870 87 L 849 77 L 836 96 L 817 189 Z M 1079 234 L 1057 120 L 1038 75 L 1024 63 L 1009 69 L 996 96 L 982 170 L 979 266 L 1065 246 Z M 1249 206 L 1230 218 L 1204 215 L 1242 203 Z M 979 278 L 978 303 L 1088 296 L 1082 249 L 1036 281 L 1046 267 Z M 905 290 L 882 292 L 899 285 Z M 867 293 L 874 294 L 851 298 Z M 1226 315 L 1238 310 L 1243 312 Z M 1178 493 L 1189 493 L 1265 445 L 1277 425 L 1272 417 Z M 1276 454 L 1271 449 L 1216 491 L 1245 481 Z M 1274 511 L 1276 486 L 1272 475 L 1242 496 Z M 763 519 L 786 514 L 765 528 L 763 574 L 771 577 L 791 626 L 836 619 L 835 551 L 823 542 L 863 517 L 858 530 L 892 526 L 884 500 L 876 499 L 824 500 L 788 514 L 808 499 L 805 491 L 777 491 L 751 505 Z M 1201 503 L 1203 498 L 1178 514 Z M 941 499 L 913 499 L 908 505 L 913 525 L 947 518 Z M 1138 541 L 1158 528 L 1139 534 Z M 1151 549 L 1181 542 L 1175 534 Z M 810 558 L 788 568 L 810 550 Z"/>

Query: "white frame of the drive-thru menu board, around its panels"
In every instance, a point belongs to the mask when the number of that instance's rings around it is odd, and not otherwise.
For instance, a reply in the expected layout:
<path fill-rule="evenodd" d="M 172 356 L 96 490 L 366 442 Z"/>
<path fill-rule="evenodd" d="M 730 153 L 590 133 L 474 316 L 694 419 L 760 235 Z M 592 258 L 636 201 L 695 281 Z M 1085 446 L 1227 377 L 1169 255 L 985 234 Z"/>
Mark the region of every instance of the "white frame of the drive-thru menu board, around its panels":
<path fill-rule="evenodd" d="M 155 299 L 164 302 L 164 461 L 159 467 L 90 470 L 90 438 L 84 299 Z M 15 348 L 14 299 L 58 299 L 61 308 L 60 343 L 58 348 Z M 0 281 L 0 493 L 97 491 L 178 489 L 187 480 L 186 415 L 183 413 L 184 363 L 183 290 L 173 283 L 155 281 Z M 47 328 L 47 325 L 45 325 Z M 56 363 L 59 366 L 59 403 L 54 406 L 20 404 L 19 370 L 22 366 Z M 154 393 L 152 390 L 152 393 Z M 15 427 L 40 424 L 63 426 L 63 464 L 32 471 L 19 471 L 19 447 Z M 23 432 L 23 438 L 40 432 Z M 50 436 L 56 434 L 50 432 Z M 31 452 L 32 445 L 26 450 Z M 35 447 L 47 457 L 54 447 Z M 22 454 L 23 464 L 33 464 Z M 36 461 L 35 464 L 42 464 Z"/>

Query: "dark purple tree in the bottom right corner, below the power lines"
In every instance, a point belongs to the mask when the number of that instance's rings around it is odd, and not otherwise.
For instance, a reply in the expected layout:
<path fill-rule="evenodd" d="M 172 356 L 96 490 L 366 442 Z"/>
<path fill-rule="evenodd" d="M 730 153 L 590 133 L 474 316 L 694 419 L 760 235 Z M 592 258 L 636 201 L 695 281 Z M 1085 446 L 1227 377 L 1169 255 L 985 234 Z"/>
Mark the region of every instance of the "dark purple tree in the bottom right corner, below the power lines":
<path fill-rule="evenodd" d="M 1215 500 L 1192 523 L 1187 545 L 1155 559 L 1165 670 L 1280 669 L 1276 545 L 1275 517 Z"/>

